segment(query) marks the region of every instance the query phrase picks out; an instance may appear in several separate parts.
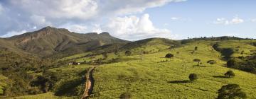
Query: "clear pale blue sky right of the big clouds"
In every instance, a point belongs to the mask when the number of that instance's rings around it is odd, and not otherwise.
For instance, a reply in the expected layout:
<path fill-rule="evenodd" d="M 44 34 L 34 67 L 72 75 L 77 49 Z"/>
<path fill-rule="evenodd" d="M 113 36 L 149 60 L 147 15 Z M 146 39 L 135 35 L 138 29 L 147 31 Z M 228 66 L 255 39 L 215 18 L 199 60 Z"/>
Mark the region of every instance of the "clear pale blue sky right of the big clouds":
<path fill-rule="evenodd" d="M 145 13 L 151 15 L 156 27 L 166 27 L 173 33 L 184 37 L 235 35 L 256 37 L 256 1 L 253 0 L 188 0 L 167 4 L 159 8 L 149 8 Z M 171 20 L 172 17 L 180 18 Z M 244 20 L 242 23 L 214 24 L 217 18 Z M 164 24 L 168 25 L 164 25 Z"/>

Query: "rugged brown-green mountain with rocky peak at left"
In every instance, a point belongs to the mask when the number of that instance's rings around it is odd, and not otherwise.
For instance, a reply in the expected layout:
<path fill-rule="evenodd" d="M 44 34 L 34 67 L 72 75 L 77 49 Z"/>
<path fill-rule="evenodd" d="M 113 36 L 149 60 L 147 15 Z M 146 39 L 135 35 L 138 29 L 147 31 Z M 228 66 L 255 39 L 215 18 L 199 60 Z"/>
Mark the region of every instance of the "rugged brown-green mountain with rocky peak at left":
<path fill-rule="evenodd" d="M 114 42 L 128 41 L 112 37 L 106 32 L 81 34 L 70 32 L 64 28 L 46 27 L 38 31 L 1 39 L 0 45 L 10 43 L 10 45 L 14 45 L 14 49 L 38 54 L 40 57 L 48 57 L 58 53 L 84 52 Z"/>

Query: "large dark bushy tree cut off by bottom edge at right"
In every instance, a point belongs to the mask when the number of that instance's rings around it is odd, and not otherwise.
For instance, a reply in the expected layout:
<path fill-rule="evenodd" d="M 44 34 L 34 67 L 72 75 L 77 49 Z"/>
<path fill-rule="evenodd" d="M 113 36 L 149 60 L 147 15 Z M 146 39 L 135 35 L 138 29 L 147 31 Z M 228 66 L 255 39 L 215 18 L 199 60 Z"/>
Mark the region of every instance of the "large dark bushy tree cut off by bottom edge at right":
<path fill-rule="evenodd" d="M 222 86 L 218 90 L 218 99 L 246 98 L 246 94 L 241 90 L 242 89 L 238 84 Z"/>

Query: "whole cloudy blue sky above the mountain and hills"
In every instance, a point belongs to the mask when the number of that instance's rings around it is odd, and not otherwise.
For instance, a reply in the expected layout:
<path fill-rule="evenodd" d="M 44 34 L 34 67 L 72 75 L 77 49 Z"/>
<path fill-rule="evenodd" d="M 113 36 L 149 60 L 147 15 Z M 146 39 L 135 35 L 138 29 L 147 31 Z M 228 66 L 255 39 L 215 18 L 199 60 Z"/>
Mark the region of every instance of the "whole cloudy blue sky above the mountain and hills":
<path fill-rule="evenodd" d="M 46 26 L 124 40 L 256 38 L 255 0 L 0 0 L 0 37 Z"/>

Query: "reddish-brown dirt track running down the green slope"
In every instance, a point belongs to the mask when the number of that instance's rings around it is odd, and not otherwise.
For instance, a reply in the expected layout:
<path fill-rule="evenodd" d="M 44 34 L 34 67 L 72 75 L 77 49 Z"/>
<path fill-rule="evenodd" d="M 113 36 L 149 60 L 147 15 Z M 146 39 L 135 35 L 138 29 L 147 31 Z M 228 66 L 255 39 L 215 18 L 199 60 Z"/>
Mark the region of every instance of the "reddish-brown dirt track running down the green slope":
<path fill-rule="evenodd" d="M 92 93 L 93 86 L 94 86 L 94 78 L 92 76 L 92 73 L 94 71 L 95 67 L 92 67 L 86 74 L 86 83 L 85 83 L 85 91 L 82 94 L 81 99 L 87 99 L 89 98 L 90 94 Z"/>

